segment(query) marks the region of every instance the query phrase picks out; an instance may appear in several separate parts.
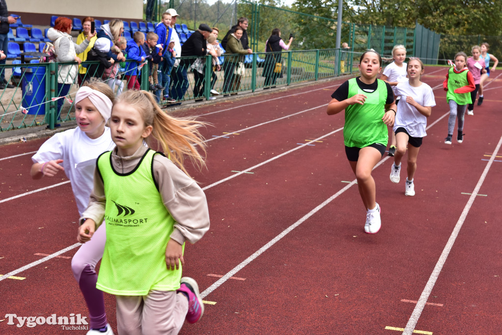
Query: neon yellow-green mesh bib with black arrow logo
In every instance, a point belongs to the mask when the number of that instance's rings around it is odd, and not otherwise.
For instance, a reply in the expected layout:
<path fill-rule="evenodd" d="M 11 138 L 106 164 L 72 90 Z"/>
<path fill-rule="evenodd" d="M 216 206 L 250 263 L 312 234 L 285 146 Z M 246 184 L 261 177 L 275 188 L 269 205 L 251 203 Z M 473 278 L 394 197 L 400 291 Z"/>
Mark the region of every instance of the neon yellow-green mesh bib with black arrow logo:
<path fill-rule="evenodd" d="M 98 158 L 106 196 L 106 244 L 96 287 L 104 292 L 147 295 L 150 290 L 180 287 L 181 264 L 179 270 L 166 267 L 166 246 L 175 221 L 154 182 L 155 154 L 148 150 L 126 174 L 113 170 L 111 152 Z"/>

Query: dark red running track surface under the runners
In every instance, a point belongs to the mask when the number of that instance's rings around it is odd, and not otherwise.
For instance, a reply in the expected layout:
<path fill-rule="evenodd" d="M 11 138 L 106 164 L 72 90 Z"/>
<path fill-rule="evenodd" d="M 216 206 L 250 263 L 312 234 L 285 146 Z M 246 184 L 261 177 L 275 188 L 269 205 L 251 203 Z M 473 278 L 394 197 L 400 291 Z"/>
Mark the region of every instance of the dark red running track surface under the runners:
<path fill-rule="evenodd" d="M 428 68 L 422 79 L 435 87 L 445 73 L 446 68 Z M 387 156 L 375 168 L 383 221 L 376 235 L 363 232 L 365 212 L 356 185 L 348 187 L 354 176 L 341 130 L 325 136 L 343 127 L 343 114 L 325 113 L 331 93 L 343 80 L 177 113 L 200 115 L 213 125 L 204 131 L 207 170 L 192 170 L 206 187 L 211 229 L 185 249 L 184 275 L 195 278 L 201 291 L 218 280 L 208 274 L 230 272 L 245 279 L 228 279 L 211 288 L 204 300 L 216 304 L 206 304 L 203 318 L 185 324 L 181 333 L 400 333 L 386 327 L 405 328 L 416 303 L 402 300 L 419 300 L 468 203 L 470 195 L 462 193 L 474 192 L 486 160 L 501 139 L 498 106 L 502 100 L 497 92 L 502 92 L 502 85 L 497 75 L 492 75 L 483 105 L 474 108 L 473 117 L 466 116 L 461 145 L 443 143 L 448 106 L 442 87 L 434 90 L 437 106 L 418 156 L 416 196 L 406 197 L 404 183 L 389 180 L 392 161 Z M 225 134 L 232 132 L 238 135 Z M 319 142 L 307 142 L 321 137 Z M 3 146 L 0 159 L 36 151 L 44 141 Z M 305 143 L 314 146 L 301 146 Z M 61 175 L 33 181 L 31 156 L 0 160 L 2 275 L 44 257 L 37 253 L 53 254 L 76 243 L 78 214 L 69 183 L 6 201 L 66 180 Z M 502 161 L 502 151 L 497 156 L 479 195 L 466 209 L 417 330 L 495 334 L 502 328 L 502 233 L 497 229 L 502 216 L 502 162 L 497 160 Z M 252 173 L 234 172 L 252 167 L 247 171 Z M 235 177 L 222 181 L 230 176 Z M 344 187 L 348 189 L 339 192 Z M 307 215 L 337 192 L 329 203 Z M 295 222 L 297 226 L 287 235 L 256 254 Z M 72 257 L 75 251 L 61 256 Z M 24 280 L 0 281 L 0 320 L 5 319 L 0 322 L 1 334 L 69 331 L 47 324 L 18 328 L 7 324 L 8 313 L 88 316 L 70 261 L 53 258 L 15 275 Z M 239 264 L 239 270 L 232 271 Z M 109 322 L 116 329 L 114 297 L 105 299 Z"/>

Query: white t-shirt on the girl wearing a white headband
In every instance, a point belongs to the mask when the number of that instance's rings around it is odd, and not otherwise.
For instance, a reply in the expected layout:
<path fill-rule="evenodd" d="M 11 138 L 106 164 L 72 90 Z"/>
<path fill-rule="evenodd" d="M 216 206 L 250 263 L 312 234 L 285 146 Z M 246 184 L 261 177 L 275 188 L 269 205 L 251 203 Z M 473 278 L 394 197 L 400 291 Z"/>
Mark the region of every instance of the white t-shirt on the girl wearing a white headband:
<path fill-rule="evenodd" d="M 114 147 L 108 127 L 105 127 L 103 135 L 95 140 L 90 139 L 77 127 L 58 133 L 45 141 L 32 160 L 34 163 L 63 160 L 61 165 L 70 179 L 80 215 L 89 203 L 96 159 Z"/>

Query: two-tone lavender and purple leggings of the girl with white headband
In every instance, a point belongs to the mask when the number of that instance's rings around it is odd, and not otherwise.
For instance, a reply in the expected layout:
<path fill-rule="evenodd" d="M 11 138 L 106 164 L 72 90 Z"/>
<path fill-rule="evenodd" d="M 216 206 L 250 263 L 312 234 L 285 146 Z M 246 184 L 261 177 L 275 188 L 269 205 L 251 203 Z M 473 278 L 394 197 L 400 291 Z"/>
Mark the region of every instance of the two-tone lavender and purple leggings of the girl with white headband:
<path fill-rule="evenodd" d="M 92 239 L 84 243 L 71 260 L 73 276 L 89 309 L 90 328 L 94 329 L 106 326 L 103 292 L 96 288 L 97 274 L 94 271 L 97 262 L 103 257 L 105 243 L 106 225 L 103 222 Z"/>

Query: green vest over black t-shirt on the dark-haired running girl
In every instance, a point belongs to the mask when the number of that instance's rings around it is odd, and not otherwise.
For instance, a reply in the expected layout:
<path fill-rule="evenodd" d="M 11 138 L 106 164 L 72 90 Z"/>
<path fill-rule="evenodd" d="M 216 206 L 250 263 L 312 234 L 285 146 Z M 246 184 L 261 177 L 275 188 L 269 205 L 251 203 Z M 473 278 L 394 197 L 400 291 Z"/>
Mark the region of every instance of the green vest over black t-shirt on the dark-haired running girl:
<path fill-rule="evenodd" d="M 364 148 L 373 143 L 387 146 L 389 133 L 382 118 L 387 101 L 387 85 L 385 81 L 376 79 L 378 86 L 372 93 L 363 91 L 355 78 L 348 80 L 348 98 L 356 94 L 367 96 L 364 104 L 355 103 L 345 108 L 345 126 L 343 139 L 345 146 Z"/>

